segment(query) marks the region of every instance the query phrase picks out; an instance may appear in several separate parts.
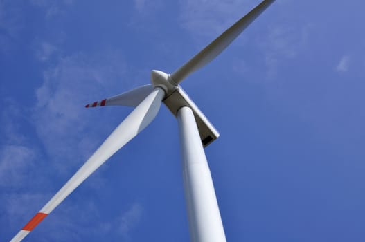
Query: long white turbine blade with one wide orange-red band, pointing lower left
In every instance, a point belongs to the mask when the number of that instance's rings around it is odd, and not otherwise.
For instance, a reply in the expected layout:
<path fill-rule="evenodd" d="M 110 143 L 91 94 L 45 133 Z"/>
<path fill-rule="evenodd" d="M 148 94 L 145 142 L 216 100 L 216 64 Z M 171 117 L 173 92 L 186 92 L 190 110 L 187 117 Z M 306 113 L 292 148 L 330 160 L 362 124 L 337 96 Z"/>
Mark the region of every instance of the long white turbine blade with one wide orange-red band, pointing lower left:
<path fill-rule="evenodd" d="M 52 212 L 64 198 L 69 196 L 88 176 L 90 176 L 100 165 L 118 149 L 121 149 L 128 141 L 132 140 L 139 132 L 152 122 L 159 111 L 161 101 L 165 95 L 164 91 L 156 88 L 145 97 L 145 100 L 130 113 L 130 115 L 119 124 L 110 134 L 95 153 L 82 165 L 82 167 L 71 177 L 69 181 L 58 191 L 48 203 L 42 207 L 35 216 L 23 227 L 22 230 L 11 240 L 12 242 L 21 241 L 33 230 L 43 218 Z"/>

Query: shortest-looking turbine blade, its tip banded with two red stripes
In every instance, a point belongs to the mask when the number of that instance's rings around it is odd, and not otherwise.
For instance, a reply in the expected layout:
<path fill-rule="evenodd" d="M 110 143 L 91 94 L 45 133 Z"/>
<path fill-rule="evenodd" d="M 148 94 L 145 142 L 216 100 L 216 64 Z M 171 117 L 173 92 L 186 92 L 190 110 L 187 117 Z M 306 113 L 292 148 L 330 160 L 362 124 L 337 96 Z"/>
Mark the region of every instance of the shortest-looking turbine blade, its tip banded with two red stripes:
<path fill-rule="evenodd" d="M 151 84 L 139 86 L 125 93 L 105 98 L 99 102 L 87 104 L 86 108 L 95 106 L 137 106 L 148 94 L 151 93 L 153 86 Z"/>

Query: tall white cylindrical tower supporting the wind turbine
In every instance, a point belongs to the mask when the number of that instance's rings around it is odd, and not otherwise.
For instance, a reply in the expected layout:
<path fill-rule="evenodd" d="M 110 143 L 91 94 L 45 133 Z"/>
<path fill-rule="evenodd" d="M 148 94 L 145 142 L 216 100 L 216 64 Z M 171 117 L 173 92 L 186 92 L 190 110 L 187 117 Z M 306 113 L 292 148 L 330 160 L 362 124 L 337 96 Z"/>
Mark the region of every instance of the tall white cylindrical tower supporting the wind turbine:
<path fill-rule="evenodd" d="M 211 171 L 200 142 L 193 111 L 184 106 L 177 112 L 190 241 L 226 241 L 215 197 Z"/>

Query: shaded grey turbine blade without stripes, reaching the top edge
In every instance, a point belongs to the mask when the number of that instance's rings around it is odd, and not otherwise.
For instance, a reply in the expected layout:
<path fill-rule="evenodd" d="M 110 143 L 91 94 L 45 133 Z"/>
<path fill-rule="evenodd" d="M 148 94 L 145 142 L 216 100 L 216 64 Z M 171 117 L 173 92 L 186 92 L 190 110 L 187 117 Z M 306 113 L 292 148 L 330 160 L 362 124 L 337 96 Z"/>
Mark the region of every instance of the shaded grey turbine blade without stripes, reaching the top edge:
<path fill-rule="evenodd" d="M 256 8 L 253 8 L 251 12 L 238 20 L 233 26 L 228 28 L 217 39 L 213 40 L 211 44 L 208 44 L 202 51 L 197 53 L 195 57 L 181 66 L 177 71 L 170 75 L 172 82 L 179 84 L 190 73 L 193 73 L 199 68 L 202 68 L 209 62 L 211 62 L 217 55 L 219 55 L 233 40 L 235 40 L 240 33 L 251 24 L 271 3 L 275 0 L 262 1 Z"/>

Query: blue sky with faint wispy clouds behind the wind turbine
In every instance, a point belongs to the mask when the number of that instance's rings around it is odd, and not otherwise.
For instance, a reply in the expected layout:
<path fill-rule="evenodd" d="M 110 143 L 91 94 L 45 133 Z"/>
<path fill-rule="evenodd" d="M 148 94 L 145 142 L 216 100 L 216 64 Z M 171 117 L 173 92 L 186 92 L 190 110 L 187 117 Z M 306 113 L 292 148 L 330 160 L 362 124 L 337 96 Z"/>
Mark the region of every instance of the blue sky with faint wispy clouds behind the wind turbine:
<path fill-rule="evenodd" d="M 0 241 L 57 192 L 128 107 L 84 104 L 175 71 L 259 1 L 0 0 Z M 278 0 L 182 86 L 228 241 L 364 241 L 365 3 Z M 148 129 L 26 241 L 188 241 L 177 120 Z"/>

